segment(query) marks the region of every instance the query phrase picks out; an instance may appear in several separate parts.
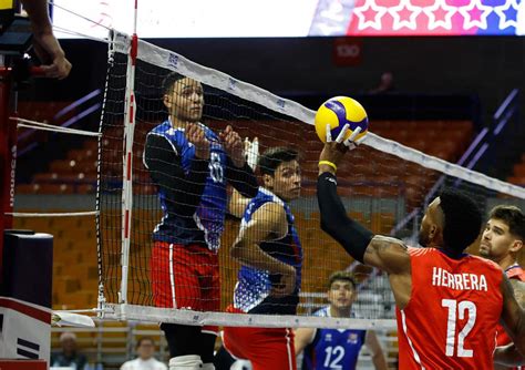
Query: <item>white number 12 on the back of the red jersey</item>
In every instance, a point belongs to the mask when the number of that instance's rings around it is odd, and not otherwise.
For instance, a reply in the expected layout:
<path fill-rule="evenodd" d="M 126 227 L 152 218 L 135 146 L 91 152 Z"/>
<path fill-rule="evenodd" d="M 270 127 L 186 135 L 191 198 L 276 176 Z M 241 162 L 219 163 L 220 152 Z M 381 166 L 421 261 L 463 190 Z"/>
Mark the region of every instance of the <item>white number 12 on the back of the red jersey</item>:
<path fill-rule="evenodd" d="M 469 336 L 472 328 L 474 327 L 474 323 L 476 322 L 476 305 L 470 300 L 462 300 L 457 302 L 455 299 L 442 299 L 441 306 L 449 309 L 445 354 L 449 357 L 454 356 L 457 317 L 460 320 L 463 320 L 465 319 L 466 314 L 469 316 L 469 320 L 457 333 L 457 357 L 473 357 L 474 351 L 472 349 L 465 349 L 464 345 L 466 336 Z"/>

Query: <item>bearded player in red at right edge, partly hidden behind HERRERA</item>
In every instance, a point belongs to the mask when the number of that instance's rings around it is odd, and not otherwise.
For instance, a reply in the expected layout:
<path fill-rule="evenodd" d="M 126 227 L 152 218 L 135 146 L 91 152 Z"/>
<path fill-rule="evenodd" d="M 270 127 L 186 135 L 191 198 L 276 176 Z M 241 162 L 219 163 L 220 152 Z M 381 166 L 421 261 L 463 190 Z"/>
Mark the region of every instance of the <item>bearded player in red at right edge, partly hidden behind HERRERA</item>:
<path fill-rule="evenodd" d="M 514 295 L 525 307 L 525 270 L 517 263 L 517 254 L 525 240 L 525 215 L 515 206 L 500 205 L 494 207 L 483 232 L 480 255 L 495 261 L 511 279 Z M 497 327 L 497 346 L 511 343 L 512 340 L 503 326 Z"/>

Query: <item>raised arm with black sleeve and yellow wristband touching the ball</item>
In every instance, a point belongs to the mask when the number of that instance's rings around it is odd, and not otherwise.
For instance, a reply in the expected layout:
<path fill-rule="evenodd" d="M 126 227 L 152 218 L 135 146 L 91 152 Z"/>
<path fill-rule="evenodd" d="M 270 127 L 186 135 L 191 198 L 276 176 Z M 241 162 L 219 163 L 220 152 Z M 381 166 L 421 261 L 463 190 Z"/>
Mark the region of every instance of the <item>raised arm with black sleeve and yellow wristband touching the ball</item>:
<path fill-rule="evenodd" d="M 404 244 L 395 238 L 374 235 L 349 218 L 337 194 L 336 171 L 344 153 L 357 146 L 353 138 L 359 130 L 342 143 L 347 127 L 334 142 L 327 143 L 319 157 L 317 197 L 321 214 L 321 228 L 334 238 L 357 260 L 383 269 L 390 274 L 410 271 L 410 257 Z M 330 131 L 327 130 L 327 133 Z"/>

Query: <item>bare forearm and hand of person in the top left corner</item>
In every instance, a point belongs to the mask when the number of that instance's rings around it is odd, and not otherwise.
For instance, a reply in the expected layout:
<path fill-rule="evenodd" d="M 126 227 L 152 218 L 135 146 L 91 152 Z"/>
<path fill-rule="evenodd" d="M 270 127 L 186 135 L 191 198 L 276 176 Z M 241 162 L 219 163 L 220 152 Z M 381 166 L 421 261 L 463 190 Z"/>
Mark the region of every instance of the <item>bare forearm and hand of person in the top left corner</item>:
<path fill-rule="evenodd" d="M 71 71 L 71 63 L 53 34 L 53 25 L 49 19 L 48 1 L 22 0 L 33 31 L 33 47 L 42 69 L 49 78 L 65 79 Z"/>

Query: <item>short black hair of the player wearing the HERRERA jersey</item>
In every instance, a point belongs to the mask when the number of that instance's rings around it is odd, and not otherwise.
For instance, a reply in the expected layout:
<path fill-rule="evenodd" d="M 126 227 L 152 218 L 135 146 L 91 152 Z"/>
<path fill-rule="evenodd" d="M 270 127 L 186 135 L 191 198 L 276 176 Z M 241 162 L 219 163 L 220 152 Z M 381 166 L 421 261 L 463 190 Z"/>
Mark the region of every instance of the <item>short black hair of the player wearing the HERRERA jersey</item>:
<path fill-rule="evenodd" d="M 456 189 L 444 189 L 440 194 L 443 210 L 443 247 L 460 255 L 481 233 L 482 213 L 474 201 Z"/>

